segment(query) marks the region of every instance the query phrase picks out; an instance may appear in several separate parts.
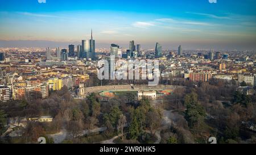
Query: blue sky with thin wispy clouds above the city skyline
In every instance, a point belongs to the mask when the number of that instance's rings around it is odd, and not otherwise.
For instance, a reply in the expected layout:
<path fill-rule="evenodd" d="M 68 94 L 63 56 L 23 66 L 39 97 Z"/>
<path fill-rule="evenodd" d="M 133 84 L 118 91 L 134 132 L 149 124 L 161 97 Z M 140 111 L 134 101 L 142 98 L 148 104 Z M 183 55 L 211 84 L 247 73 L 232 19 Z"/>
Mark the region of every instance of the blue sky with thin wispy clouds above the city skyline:
<path fill-rule="evenodd" d="M 254 0 L 1 0 L 0 47 L 42 47 L 93 37 L 96 48 L 256 49 Z"/>

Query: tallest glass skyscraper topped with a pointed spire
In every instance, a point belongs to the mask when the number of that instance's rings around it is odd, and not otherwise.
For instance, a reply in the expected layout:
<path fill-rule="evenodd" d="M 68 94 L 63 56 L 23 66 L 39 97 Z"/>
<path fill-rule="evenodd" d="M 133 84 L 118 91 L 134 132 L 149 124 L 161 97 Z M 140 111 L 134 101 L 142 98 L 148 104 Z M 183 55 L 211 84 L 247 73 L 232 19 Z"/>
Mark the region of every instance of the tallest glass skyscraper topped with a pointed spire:
<path fill-rule="evenodd" d="M 90 40 L 82 40 L 82 58 L 95 58 L 95 40 L 91 32 Z"/>

